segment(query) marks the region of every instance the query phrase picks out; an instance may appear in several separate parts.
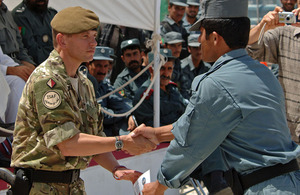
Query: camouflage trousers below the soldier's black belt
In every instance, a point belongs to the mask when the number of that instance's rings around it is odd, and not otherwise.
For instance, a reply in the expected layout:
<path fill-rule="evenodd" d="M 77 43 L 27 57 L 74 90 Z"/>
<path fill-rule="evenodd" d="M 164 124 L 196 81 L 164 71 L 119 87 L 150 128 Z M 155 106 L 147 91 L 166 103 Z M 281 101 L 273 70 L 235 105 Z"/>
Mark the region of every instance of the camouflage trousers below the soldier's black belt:
<path fill-rule="evenodd" d="M 71 184 L 33 182 L 30 195 L 85 195 L 84 182 L 79 179 Z"/>

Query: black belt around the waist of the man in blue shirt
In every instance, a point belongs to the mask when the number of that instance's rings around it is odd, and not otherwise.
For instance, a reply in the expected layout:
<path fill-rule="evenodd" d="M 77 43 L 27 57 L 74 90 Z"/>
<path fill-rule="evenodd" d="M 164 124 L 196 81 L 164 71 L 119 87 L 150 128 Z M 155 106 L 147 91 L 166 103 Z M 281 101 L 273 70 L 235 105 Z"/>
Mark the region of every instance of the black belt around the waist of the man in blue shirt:
<path fill-rule="evenodd" d="M 297 170 L 299 170 L 299 165 L 297 160 L 294 159 L 286 164 L 279 163 L 264 167 L 246 175 L 241 175 L 234 169 L 230 169 L 225 172 L 224 177 L 234 194 L 237 195 L 244 194 L 245 190 L 258 183 Z"/>

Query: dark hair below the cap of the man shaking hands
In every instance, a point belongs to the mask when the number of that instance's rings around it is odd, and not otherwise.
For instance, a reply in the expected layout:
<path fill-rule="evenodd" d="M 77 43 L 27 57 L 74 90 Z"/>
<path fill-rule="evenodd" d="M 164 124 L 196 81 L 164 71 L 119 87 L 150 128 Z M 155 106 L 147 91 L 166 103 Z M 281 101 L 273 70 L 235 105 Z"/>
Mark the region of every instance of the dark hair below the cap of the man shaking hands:
<path fill-rule="evenodd" d="M 250 32 L 248 17 L 204 19 L 201 26 L 205 29 L 206 39 L 215 31 L 223 37 L 230 49 L 245 48 L 248 44 Z"/>

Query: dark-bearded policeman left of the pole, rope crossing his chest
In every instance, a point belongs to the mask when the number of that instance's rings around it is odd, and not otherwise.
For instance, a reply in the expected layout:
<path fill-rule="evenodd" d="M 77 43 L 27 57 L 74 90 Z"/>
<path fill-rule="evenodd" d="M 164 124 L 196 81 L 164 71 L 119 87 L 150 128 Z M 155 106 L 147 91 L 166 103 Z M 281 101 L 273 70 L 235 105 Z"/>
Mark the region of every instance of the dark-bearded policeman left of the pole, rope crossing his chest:
<path fill-rule="evenodd" d="M 121 43 L 121 50 L 122 50 L 121 58 L 124 61 L 126 67 L 117 76 L 117 79 L 114 82 L 115 88 L 118 88 L 123 84 L 125 84 L 127 81 L 132 79 L 143 69 L 141 47 L 140 47 L 140 41 L 138 39 L 130 39 L 130 40 L 123 41 Z M 150 78 L 149 72 L 148 71 L 144 72 L 136 80 L 134 80 L 129 85 L 124 87 L 124 89 L 120 92 L 121 95 L 132 101 L 136 90 L 140 88 L 142 84 L 149 78 Z"/>

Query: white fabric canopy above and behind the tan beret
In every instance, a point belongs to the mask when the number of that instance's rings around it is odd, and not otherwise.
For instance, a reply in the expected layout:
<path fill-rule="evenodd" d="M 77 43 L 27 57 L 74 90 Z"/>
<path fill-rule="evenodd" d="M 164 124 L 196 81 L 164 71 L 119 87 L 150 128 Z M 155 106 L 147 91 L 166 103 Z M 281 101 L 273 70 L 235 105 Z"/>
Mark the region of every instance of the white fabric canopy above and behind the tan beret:
<path fill-rule="evenodd" d="M 49 0 L 49 6 L 57 11 L 70 6 L 81 6 L 94 11 L 99 16 L 100 22 L 154 30 L 155 1 L 156 0 Z M 15 8 L 20 2 L 22 2 L 22 0 L 4 1 L 9 10 Z"/>

